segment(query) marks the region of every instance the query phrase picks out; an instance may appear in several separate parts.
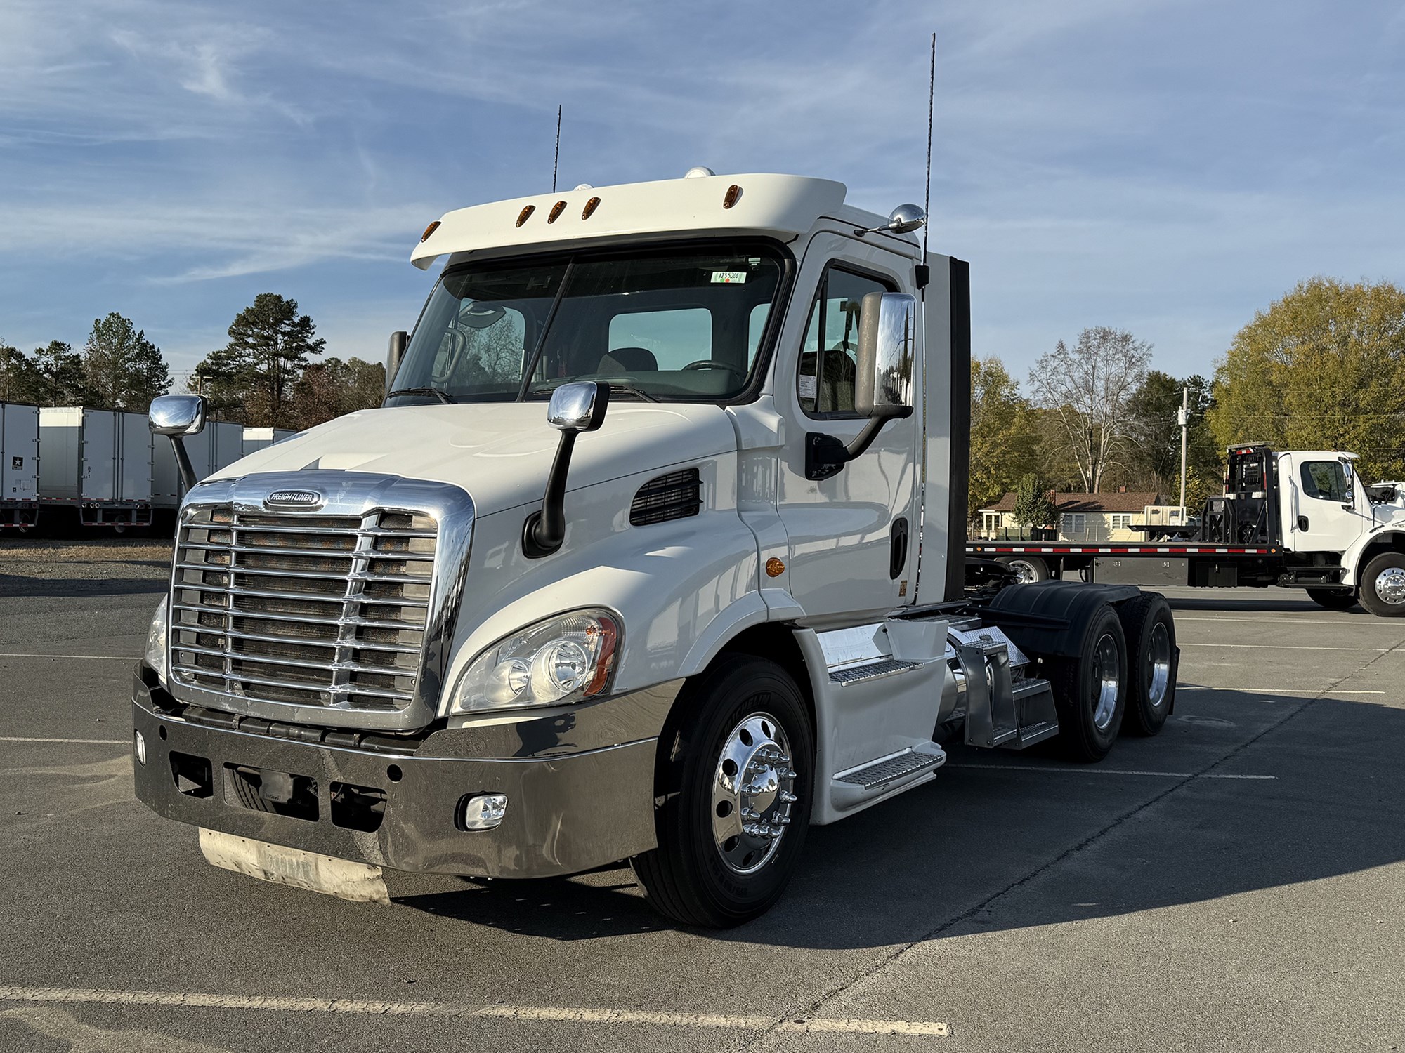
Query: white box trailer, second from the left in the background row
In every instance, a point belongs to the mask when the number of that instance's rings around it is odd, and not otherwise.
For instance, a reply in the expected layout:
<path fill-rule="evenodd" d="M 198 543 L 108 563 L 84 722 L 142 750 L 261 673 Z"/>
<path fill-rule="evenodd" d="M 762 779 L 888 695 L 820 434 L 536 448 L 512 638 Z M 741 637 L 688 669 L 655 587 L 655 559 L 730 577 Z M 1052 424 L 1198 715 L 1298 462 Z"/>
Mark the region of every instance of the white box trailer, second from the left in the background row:
<path fill-rule="evenodd" d="M 59 406 L 39 410 L 39 507 L 76 508 L 84 526 L 152 522 L 146 414 Z"/>

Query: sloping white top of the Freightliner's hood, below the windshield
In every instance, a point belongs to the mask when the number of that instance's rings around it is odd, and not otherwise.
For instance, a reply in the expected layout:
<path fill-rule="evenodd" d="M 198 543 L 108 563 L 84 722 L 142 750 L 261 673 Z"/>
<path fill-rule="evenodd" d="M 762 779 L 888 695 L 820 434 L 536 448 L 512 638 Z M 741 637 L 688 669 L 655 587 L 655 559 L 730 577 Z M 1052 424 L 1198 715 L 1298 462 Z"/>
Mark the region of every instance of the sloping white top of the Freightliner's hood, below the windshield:
<path fill-rule="evenodd" d="M 212 477 L 341 469 L 459 486 L 478 515 L 540 501 L 561 432 L 547 403 L 398 406 L 339 417 L 256 451 Z M 569 490 L 736 449 L 719 406 L 613 402 L 599 431 L 582 435 Z"/>

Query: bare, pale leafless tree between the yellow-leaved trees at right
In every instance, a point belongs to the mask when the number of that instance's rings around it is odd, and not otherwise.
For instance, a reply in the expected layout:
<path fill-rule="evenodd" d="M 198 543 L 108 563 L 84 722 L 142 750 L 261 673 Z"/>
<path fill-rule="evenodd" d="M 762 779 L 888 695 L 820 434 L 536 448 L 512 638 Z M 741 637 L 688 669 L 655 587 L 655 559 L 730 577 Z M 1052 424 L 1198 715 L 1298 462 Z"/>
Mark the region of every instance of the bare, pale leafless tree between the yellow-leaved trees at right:
<path fill-rule="evenodd" d="M 1131 333 L 1085 329 L 1062 340 L 1030 373 L 1038 403 L 1058 416 L 1064 445 L 1089 493 L 1097 493 L 1113 453 L 1127 438 L 1127 402 L 1146 376 L 1151 344 Z"/>

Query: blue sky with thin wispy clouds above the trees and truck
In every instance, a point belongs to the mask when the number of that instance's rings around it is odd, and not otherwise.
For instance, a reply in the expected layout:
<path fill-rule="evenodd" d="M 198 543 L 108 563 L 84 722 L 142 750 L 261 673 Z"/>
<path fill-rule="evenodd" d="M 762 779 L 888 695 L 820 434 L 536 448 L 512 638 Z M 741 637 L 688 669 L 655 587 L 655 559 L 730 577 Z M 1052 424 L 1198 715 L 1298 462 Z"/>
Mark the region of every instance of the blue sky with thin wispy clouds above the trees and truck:
<path fill-rule="evenodd" d="M 259 292 L 381 358 L 450 208 L 693 164 L 922 199 L 976 354 L 1085 326 L 1208 372 L 1314 274 L 1405 281 L 1405 6 L 1378 0 L 0 4 L 0 337 L 108 310 L 188 371 Z"/>

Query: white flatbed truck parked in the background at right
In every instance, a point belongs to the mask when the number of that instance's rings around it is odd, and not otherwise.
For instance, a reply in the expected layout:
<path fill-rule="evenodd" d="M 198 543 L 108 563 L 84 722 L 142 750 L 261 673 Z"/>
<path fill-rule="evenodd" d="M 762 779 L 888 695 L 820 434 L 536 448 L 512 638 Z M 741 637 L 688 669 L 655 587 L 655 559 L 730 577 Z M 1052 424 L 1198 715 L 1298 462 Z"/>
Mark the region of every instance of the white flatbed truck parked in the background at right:
<path fill-rule="evenodd" d="M 1197 525 L 1148 528 L 1145 542 L 972 541 L 1020 581 L 1078 571 L 1093 581 L 1301 588 L 1319 607 L 1357 602 L 1405 616 L 1405 498 L 1399 483 L 1367 486 L 1356 453 L 1228 449 L 1224 493 Z"/>

